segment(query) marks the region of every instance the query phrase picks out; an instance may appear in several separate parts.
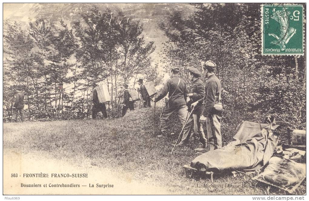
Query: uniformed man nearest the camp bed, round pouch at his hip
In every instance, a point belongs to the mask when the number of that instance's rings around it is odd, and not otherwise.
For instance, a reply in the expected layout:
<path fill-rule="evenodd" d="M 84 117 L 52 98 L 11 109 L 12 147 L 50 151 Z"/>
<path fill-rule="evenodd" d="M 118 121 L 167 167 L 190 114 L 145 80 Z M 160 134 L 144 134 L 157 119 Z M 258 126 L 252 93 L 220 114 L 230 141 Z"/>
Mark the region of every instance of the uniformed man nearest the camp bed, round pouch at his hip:
<path fill-rule="evenodd" d="M 200 122 L 202 124 L 206 122 L 210 150 L 222 147 L 220 132 L 223 111 L 221 104 L 221 82 L 214 74 L 215 67 L 216 64 L 213 61 L 206 61 L 203 64 L 203 75 L 207 78 L 205 96 L 191 105 L 193 107 L 204 104 Z"/>

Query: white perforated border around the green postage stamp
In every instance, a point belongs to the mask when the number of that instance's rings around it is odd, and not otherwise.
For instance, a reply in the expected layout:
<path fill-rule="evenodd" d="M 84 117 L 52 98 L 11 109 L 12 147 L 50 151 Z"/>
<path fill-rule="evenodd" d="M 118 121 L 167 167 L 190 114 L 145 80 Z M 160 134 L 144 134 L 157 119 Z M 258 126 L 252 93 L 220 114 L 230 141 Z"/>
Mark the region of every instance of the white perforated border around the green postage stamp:
<path fill-rule="evenodd" d="M 287 53 L 287 54 L 264 54 L 264 35 L 263 35 L 263 30 L 264 30 L 264 16 L 263 16 L 263 8 L 264 6 L 302 6 L 302 10 L 303 10 L 303 53 Z M 262 56 L 304 56 L 305 54 L 305 15 L 304 15 L 304 6 L 302 4 L 262 4 L 261 8 L 261 26 L 260 26 L 260 31 L 261 31 L 261 54 Z"/>

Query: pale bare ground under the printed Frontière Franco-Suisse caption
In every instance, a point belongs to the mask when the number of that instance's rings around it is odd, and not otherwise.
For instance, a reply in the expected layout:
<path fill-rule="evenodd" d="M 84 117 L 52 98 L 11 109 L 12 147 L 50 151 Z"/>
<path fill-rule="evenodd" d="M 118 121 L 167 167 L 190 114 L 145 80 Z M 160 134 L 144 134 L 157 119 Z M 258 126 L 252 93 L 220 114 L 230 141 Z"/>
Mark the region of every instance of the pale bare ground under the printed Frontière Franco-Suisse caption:
<path fill-rule="evenodd" d="M 44 152 L 28 154 L 16 150 L 3 150 L 3 194 L 5 195 L 145 195 L 170 194 L 166 189 L 138 182 L 131 175 L 111 169 L 92 166 L 90 161 L 78 158 L 56 160 Z M 49 174 L 49 177 L 26 177 L 24 174 Z M 11 177 L 17 174 L 17 177 Z M 55 178 L 52 174 L 87 174 L 87 178 Z M 39 185 L 41 187 L 22 187 Z M 44 187 L 44 185 L 47 187 Z M 56 185 L 79 185 L 79 187 L 51 187 Z M 102 187 L 96 187 L 102 185 Z M 89 186 L 94 187 L 89 187 Z M 105 185 L 105 188 L 104 188 Z M 113 187 L 112 187 L 113 185 Z M 106 187 L 109 186 L 109 187 Z"/>

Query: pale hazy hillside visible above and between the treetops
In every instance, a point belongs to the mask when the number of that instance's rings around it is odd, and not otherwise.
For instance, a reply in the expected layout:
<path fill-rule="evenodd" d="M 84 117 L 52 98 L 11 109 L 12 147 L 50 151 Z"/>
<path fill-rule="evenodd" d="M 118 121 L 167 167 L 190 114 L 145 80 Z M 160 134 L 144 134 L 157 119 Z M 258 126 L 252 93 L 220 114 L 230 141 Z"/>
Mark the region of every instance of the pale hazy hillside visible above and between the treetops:
<path fill-rule="evenodd" d="M 185 16 L 196 11 L 195 6 L 188 3 L 5 3 L 3 5 L 3 19 L 16 21 L 28 26 L 29 21 L 42 18 L 50 22 L 62 19 L 68 24 L 82 20 L 81 15 L 97 7 L 101 12 L 110 9 L 114 13 L 123 12 L 143 23 L 143 36 L 146 42 L 154 41 L 156 51 L 154 57 L 159 56 L 162 43 L 167 41 L 159 24 L 169 19 L 171 12 L 179 11 Z M 159 61 L 159 58 L 154 58 Z"/>

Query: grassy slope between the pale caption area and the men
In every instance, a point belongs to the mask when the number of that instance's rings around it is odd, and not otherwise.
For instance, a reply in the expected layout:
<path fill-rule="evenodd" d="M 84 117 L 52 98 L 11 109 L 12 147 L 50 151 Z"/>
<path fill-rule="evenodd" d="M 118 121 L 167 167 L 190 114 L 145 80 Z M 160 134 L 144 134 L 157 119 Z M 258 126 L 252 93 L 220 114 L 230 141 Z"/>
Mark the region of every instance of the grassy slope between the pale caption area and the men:
<path fill-rule="evenodd" d="M 239 174 L 234 178 L 228 172 L 214 177 L 213 185 L 223 187 L 197 188 L 197 184 L 211 183 L 207 179 L 186 178 L 182 168 L 197 156 L 193 151 L 197 144 L 176 149 L 175 154 L 171 155 L 171 143 L 175 139 L 154 137 L 152 112 L 138 109 L 120 119 L 4 124 L 3 146 L 24 153 L 44 151 L 63 160 L 76 156 L 90 159 L 92 165 L 115 168 L 115 171 L 132 175 L 134 180 L 150 179 L 154 185 L 164 186 L 171 194 L 265 195 L 265 186 L 252 181 L 251 177 Z M 156 132 L 159 133 L 159 124 L 156 125 Z M 176 125 L 179 127 L 180 123 Z M 6 136 L 11 137 L 6 140 Z M 224 136 L 223 140 L 226 140 Z M 238 187 L 224 187 L 227 184 Z M 295 194 L 304 194 L 305 186 L 303 182 Z M 270 192 L 285 194 L 275 188 L 271 188 Z"/>

